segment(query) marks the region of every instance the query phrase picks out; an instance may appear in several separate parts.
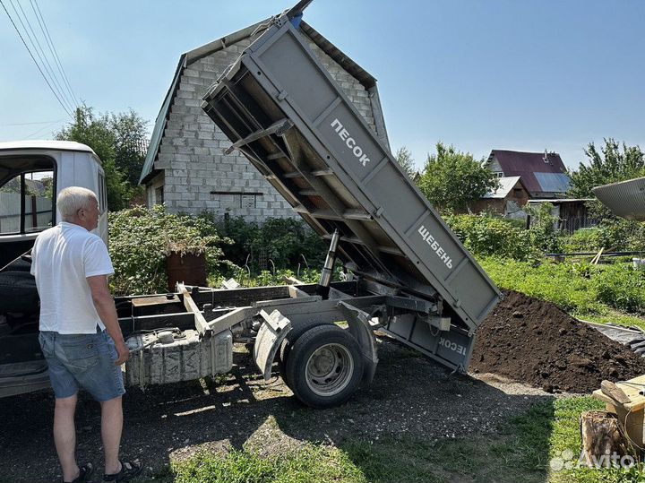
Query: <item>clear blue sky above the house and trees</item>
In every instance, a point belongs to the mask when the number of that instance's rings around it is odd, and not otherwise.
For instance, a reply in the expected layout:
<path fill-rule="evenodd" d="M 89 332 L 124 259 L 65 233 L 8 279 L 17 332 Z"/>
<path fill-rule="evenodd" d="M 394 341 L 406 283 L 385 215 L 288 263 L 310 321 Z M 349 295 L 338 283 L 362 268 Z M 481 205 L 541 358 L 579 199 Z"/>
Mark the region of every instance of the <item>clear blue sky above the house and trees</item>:
<path fill-rule="evenodd" d="M 30 0 L 3 0 L 33 14 Z M 186 50 L 296 0 L 39 0 L 77 98 L 154 123 Z M 645 2 L 314 0 L 305 21 L 378 79 L 391 147 L 417 165 L 441 140 L 558 151 L 576 167 L 604 137 L 645 148 Z M 32 26 L 39 29 L 33 16 Z M 0 141 L 67 121 L 0 9 Z M 51 124 L 28 124 L 56 121 Z"/>

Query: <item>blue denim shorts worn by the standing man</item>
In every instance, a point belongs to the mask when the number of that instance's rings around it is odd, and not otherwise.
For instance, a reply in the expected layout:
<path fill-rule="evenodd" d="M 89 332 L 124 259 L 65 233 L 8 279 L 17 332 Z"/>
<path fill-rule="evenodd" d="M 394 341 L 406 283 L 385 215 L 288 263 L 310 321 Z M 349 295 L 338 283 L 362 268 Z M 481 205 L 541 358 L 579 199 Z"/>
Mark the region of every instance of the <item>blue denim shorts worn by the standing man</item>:
<path fill-rule="evenodd" d="M 125 393 L 114 341 L 107 332 L 66 334 L 43 331 L 40 348 L 47 360 L 49 379 L 57 399 L 68 398 L 79 387 L 99 402 Z"/>

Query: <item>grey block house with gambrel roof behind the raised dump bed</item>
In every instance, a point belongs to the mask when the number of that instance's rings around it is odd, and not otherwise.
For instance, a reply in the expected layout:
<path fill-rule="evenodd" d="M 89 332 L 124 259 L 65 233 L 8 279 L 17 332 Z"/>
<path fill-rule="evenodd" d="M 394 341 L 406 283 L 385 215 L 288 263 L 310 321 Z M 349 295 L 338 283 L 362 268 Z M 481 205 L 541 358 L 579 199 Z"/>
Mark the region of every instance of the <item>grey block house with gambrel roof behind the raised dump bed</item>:
<path fill-rule="evenodd" d="M 146 188 L 149 207 L 165 203 L 169 212 L 211 211 L 218 218 L 242 216 L 258 222 L 297 216 L 243 155 L 224 154 L 231 142 L 200 107 L 211 84 L 262 34 L 265 22 L 180 57 L 142 168 L 140 184 Z M 374 77 L 307 23 L 300 23 L 300 31 L 367 124 L 389 146 Z"/>

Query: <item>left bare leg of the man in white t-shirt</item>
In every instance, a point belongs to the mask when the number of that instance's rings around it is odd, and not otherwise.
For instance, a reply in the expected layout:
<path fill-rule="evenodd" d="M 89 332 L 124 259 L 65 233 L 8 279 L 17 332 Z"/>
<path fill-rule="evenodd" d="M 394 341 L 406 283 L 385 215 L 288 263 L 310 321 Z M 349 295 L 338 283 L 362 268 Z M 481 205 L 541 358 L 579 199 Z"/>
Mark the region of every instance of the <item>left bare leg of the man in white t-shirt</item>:
<path fill-rule="evenodd" d="M 81 471 L 76 463 L 74 413 L 77 399 L 76 394 L 69 398 L 56 399 L 54 407 L 54 444 L 63 468 L 64 481 L 73 481 Z"/>

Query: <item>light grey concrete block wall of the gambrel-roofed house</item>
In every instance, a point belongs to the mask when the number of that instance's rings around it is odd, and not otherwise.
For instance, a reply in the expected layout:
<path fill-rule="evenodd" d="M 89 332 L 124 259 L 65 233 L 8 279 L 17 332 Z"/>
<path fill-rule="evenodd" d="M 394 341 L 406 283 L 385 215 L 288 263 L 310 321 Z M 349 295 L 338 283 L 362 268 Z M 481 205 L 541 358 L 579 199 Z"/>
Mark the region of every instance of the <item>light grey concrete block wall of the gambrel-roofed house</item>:
<path fill-rule="evenodd" d="M 249 39 L 241 40 L 184 69 L 155 162 L 155 168 L 164 170 L 163 199 L 170 212 L 211 211 L 219 217 L 228 213 L 258 222 L 269 217 L 298 217 L 244 156 L 237 151 L 228 156 L 222 153 L 230 142 L 200 108 L 203 95 L 219 73 L 250 43 Z M 313 42 L 309 44 L 375 131 L 363 85 Z"/>

